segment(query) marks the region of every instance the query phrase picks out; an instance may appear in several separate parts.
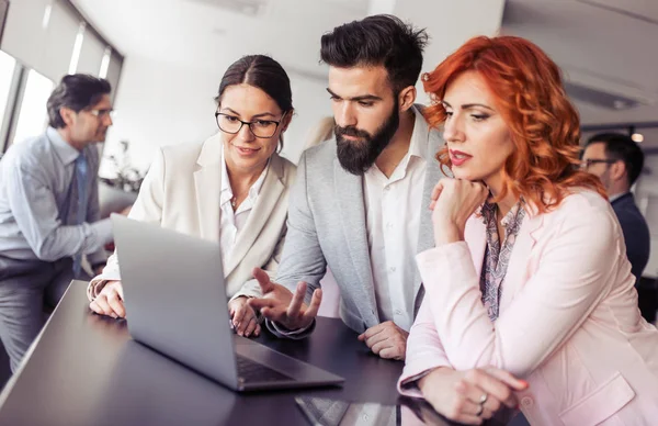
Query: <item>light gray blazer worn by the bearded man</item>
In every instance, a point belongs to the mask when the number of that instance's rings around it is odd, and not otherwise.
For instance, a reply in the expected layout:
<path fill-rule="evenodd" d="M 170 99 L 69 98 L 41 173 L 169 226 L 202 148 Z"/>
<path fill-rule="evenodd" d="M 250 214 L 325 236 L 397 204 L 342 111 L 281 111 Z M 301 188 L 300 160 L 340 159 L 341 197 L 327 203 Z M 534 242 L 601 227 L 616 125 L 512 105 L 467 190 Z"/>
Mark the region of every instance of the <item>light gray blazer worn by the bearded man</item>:
<path fill-rule="evenodd" d="M 428 138 L 426 158 L 429 160 L 422 202 L 418 205 L 421 220 L 417 253 L 434 246 L 428 206 L 432 189 L 443 177 L 439 162 L 433 160 L 443 139 L 435 130 L 428 132 Z M 336 141 L 306 150 L 299 159 L 297 181 L 291 192 L 288 231 L 276 282 L 294 291 L 297 282 L 306 281 L 308 303 L 329 266 L 340 289 L 340 316 L 359 333 L 381 323 L 365 217 L 363 177 L 343 170 L 336 156 Z M 424 294 L 418 270 L 413 289 L 416 315 Z"/>

